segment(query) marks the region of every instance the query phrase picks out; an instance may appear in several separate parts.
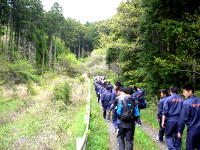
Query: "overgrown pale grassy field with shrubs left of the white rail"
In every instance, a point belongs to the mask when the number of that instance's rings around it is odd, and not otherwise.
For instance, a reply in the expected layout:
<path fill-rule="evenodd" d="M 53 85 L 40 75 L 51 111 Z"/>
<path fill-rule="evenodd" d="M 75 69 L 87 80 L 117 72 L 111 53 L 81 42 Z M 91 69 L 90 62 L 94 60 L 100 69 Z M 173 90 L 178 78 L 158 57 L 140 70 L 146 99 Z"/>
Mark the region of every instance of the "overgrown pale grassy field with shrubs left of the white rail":
<path fill-rule="evenodd" d="M 34 87 L 35 96 L 1 98 L 0 149 L 75 150 L 86 127 L 87 84 L 82 77 L 66 80 L 49 73 Z M 67 93 L 69 88 L 75 92 Z M 59 100 L 51 101 L 54 90 Z"/>

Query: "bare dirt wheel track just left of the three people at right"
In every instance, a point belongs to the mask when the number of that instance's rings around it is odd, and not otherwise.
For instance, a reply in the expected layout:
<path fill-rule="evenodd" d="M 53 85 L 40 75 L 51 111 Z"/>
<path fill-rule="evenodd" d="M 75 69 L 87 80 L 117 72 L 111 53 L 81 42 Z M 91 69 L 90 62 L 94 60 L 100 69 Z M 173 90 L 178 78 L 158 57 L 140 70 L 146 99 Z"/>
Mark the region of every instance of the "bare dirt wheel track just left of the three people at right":
<path fill-rule="evenodd" d="M 156 129 L 151 128 L 145 122 L 142 122 L 141 129 L 154 140 L 154 142 L 158 145 L 158 147 L 160 148 L 160 150 L 168 150 L 168 148 L 165 145 L 165 143 L 161 143 L 161 142 L 158 142 L 156 140 L 156 137 L 157 137 L 157 134 L 158 134 L 158 131 Z"/>

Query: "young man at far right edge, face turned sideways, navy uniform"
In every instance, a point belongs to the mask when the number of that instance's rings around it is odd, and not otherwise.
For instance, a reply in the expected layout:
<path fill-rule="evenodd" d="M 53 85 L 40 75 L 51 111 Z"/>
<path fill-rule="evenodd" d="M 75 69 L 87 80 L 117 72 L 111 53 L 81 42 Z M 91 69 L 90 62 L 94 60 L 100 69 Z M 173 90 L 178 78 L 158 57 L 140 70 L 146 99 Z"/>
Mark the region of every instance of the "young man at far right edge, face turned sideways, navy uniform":
<path fill-rule="evenodd" d="M 194 89 L 190 85 L 183 88 L 183 95 L 188 98 L 183 103 L 179 120 L 178 137 L 182 137 L 185 125 L 187 125 L 187 150 L 200 150 L 200 98 L 194 95 Z"/>

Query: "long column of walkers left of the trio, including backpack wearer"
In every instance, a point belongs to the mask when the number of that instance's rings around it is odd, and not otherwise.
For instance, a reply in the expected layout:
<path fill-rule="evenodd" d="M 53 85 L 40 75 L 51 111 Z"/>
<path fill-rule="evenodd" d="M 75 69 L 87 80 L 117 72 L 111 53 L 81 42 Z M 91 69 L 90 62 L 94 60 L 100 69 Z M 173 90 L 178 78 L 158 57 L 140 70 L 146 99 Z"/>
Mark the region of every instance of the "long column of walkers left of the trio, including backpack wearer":
<path fill-rule="evenodd" d="M 125 147 L 133 150 L 135 123 L 141 126 L 140 109 L 146 108 L 144 91 L 137 87 L 125 87 L 119 81 L 113 86 L 103 76 L 95 77 L 94 86 L 103 118 L 110 121 L 112 113 L 119 150 L 125 150 Z"/>

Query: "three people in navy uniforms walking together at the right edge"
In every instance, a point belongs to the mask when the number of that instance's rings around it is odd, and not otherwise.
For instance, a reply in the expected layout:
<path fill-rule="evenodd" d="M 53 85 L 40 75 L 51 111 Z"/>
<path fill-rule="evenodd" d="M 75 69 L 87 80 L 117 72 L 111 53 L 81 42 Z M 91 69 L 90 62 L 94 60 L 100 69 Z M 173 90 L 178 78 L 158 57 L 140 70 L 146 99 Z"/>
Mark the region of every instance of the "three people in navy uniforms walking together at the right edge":
<path fill-rule="evenodd" d="M 165 141 L 169 150 L 181 150 L 185 125 L 186 149 L 200 150 L 200 98 L 194 95 L 191 85 L 183 87 L 183 96 L 175 86 L 160 91 L 157 119 L 160 125 L 157 140 Z"/>

